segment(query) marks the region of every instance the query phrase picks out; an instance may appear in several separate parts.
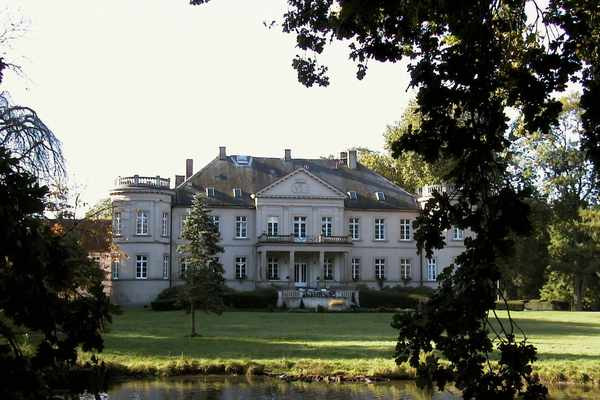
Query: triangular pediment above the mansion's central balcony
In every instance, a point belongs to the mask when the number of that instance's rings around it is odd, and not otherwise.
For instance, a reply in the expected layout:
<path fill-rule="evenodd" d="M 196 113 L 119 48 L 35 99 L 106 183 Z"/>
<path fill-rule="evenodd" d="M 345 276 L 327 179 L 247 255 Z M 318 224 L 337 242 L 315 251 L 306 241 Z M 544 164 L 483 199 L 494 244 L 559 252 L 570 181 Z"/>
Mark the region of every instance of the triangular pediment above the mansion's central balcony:
<path fill-rule="evenodd" d="M 301 168 L 259 190 L 256 197 L 344 199 L 346 195 Z"/>

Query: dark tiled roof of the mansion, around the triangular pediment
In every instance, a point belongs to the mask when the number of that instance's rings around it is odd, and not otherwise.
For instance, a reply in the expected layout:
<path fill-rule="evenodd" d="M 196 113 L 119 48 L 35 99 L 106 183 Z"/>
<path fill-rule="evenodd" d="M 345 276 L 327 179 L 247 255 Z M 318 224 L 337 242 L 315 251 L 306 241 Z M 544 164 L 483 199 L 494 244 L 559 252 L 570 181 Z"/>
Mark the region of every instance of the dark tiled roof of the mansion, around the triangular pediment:
<path fill-rule="evenodd" d="M 235 162 L 235 157 L 228 156 L 224 160 L 215 158 L 176 188 L 176 205 L 189 205 L 195 193 L 205 193 L 207 187 L 214 187 L 215 196 L 207 198 L 210 206 L 253 208 L 251 194 L 299 168 L 304 168 L 343 193 L 357 192 L 356 200 L 346 197 L 346 208 L 418 209 L 414 195 L 360 163 L 356 169 L 350 169 L 340 160 L 251 157 L 248 165 L 241 166 Z M 242 196 L 234 197 L 233 188 L 240 188 Z M 384 192 L 385 200 L 377 200 L 375 192 Z"/>

